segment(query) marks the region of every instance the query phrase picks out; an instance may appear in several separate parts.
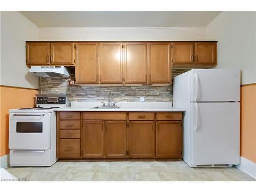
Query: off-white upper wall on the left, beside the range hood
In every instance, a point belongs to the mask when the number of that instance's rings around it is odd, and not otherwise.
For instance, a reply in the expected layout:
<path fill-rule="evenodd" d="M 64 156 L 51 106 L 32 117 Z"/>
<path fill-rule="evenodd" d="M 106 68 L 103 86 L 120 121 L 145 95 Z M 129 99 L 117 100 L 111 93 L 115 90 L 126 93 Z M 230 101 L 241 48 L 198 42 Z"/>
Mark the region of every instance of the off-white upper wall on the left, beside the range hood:
<path fill-rule="evenodd" d="M 1 84 L 38 88 L 38 77 L 28 73 L 26 40 L 38 40 L 39 29 L 17 11 L 1 12 Z"/>

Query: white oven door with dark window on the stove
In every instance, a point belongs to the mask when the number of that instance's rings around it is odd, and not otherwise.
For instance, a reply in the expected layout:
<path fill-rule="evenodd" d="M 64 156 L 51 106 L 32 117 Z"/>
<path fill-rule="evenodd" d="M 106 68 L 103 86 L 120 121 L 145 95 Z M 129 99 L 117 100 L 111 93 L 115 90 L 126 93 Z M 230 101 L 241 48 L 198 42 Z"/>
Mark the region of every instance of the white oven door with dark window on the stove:
<path fill-rule="evenodd" d="M 50 113 L 10 114 L 10 149 L 50 148 Z"/>

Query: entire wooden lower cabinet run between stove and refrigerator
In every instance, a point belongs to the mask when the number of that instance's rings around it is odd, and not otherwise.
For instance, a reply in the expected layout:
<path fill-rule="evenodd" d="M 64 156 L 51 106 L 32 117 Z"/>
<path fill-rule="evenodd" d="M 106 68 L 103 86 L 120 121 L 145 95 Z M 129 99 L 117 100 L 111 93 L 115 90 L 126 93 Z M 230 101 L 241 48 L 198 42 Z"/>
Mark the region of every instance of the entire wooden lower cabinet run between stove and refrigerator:
<path fill-rule="evenodd" d="M 182 112 L 58 112 L 57 157 L 181 159 Z"/>

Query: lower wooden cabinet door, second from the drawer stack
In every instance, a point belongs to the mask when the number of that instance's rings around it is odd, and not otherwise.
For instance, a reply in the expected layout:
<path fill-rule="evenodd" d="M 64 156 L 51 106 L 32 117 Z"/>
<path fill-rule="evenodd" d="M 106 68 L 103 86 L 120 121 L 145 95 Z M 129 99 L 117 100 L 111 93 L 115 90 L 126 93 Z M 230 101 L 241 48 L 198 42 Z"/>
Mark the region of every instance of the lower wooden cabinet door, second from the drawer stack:
<path fill-rule="evenodd" d="M 126 157 L 126 121 L 105 121 L 105 158 Z"/>

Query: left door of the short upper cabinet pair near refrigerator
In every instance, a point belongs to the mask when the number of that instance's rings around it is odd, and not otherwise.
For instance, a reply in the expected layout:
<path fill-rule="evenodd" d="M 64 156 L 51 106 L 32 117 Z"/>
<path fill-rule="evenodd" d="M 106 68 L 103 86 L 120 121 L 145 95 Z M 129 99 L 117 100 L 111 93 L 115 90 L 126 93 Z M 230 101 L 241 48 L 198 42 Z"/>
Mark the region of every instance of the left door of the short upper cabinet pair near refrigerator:
<path fill-rule="evenodd" d="M 173 65 L 194 63 L 193 42 L 173 42 Z"/>

